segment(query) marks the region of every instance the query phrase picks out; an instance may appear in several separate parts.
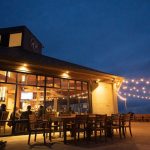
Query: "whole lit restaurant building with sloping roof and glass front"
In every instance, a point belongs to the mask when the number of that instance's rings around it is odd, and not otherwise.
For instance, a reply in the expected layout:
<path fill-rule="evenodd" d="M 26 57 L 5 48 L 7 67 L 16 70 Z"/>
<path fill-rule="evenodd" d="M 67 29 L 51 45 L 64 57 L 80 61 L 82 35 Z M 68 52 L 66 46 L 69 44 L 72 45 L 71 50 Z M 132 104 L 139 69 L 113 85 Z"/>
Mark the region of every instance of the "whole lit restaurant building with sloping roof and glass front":
<path fill-rule="evenodd" d="M 56 114 L 118 112 L 122 77 L 45 56 L 42 48 L 25 26 L 0 29 L 0 104 L 11 121 L 0 125 L 1 136 L 24 133 L 16 124 L 28 105 L 35 113 L 41 105 Z"/>

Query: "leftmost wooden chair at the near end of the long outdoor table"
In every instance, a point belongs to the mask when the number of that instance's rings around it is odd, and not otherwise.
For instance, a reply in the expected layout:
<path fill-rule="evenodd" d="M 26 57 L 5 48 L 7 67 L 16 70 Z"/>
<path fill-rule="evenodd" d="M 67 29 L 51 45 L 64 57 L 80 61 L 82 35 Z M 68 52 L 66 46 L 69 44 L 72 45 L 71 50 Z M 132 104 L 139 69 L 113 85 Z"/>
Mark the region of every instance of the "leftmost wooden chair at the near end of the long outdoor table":
<path fill-rule="evenodd" d="M 36 142 L 36 136 L 39 133 L 43 134 L 44 144 L 46 144 L 46 136 L 45 134 L 50 132 L 50 129 L 47 127 L 47 122 L 43 120 L 37 120 L 35 114 L 29 115 L 28 121 L 28 144 L 30 144 L 31 134 L 35 134 L 34 141 Z M 50 133 L 49 133 L 50 134 Z"/>

